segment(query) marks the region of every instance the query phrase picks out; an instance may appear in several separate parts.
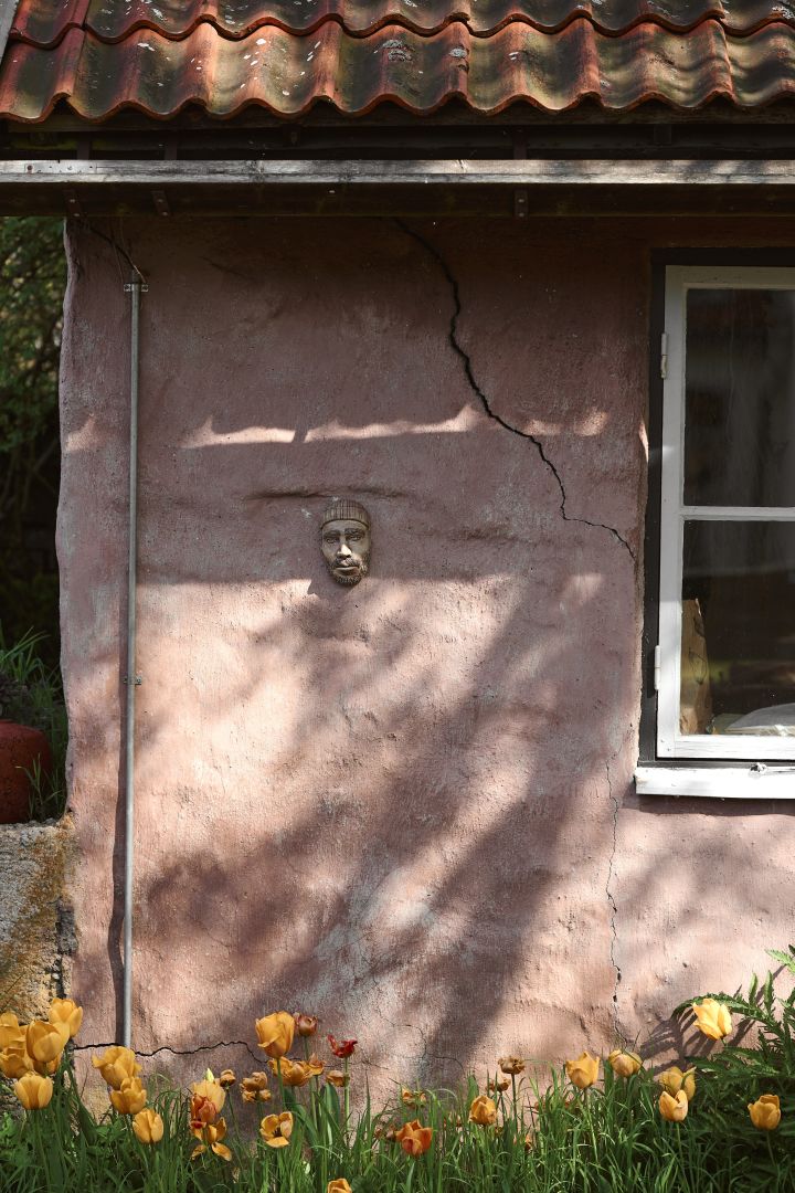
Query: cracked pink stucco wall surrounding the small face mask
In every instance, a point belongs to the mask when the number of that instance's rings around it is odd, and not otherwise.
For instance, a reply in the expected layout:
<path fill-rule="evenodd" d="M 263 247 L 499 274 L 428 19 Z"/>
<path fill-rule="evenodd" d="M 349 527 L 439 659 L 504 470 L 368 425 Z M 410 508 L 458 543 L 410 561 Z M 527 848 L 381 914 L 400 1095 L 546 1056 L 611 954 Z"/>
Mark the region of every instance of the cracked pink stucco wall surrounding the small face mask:
<path fill-rule="evenodd" d="M 648 249 L 746 230 L 124 234 L 150 283 L 136 1045 L 254 1040 L 256 1015 L 302 1008 L 359 1037 L 371 1080 L 449 1078 L 449 1057 L 604 1049 L 616 1015 L 642 1040 L 681 999 L 764 968 L 793 935 L 788 805 L 632 785 Z M 110 1040 L 129 310 L 108 243 L 74 225 L 68 247 L 74 990 L 86 1039 Z M 330 494 L 373 518 L 353 589 L 318 549 Z"/>

